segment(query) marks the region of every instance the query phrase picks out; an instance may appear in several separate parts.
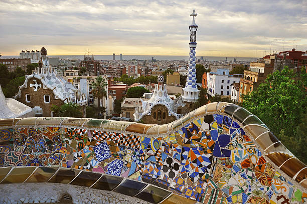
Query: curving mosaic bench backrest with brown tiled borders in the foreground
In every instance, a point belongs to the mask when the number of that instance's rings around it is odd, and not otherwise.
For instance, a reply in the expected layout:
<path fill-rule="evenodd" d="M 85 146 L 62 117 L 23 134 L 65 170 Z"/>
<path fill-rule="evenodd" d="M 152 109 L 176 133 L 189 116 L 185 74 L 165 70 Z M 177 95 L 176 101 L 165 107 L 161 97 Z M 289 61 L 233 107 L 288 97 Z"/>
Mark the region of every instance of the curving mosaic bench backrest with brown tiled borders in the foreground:
<path fill-rule="evenodd" d="M 307 203 L 306 165 L 231 103 L 210 103 L 165 125 L 47 117 L 0 119 L 0 128 L 3 197 L 14 183 L 53 183 L 131 202 Z M 0 196 L 8 199 L 24 202 Z"/>

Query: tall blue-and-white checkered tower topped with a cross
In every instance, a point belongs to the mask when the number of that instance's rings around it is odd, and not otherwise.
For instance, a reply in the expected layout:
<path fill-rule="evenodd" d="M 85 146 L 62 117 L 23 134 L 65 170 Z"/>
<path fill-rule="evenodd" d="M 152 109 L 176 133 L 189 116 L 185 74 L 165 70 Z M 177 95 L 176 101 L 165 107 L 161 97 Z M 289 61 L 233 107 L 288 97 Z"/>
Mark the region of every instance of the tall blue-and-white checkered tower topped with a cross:
<path fill-rule="evenodd" d="M 196 102 L 198 100 L 199 90 L 197 89 L 196 84 L 196 57 L 195 57 L 195 48 L 196 48 L 196 31 L 198 26 L 195 24 L 195 10 L 190 16 L 193 17 L 192 24 L 189 26 L 190 29 L 190 62 L 189 62 L 189 74 L 187 77 L 187 82 L 185 88 L 182 89 L 182 100 L 184 102 Z"/>

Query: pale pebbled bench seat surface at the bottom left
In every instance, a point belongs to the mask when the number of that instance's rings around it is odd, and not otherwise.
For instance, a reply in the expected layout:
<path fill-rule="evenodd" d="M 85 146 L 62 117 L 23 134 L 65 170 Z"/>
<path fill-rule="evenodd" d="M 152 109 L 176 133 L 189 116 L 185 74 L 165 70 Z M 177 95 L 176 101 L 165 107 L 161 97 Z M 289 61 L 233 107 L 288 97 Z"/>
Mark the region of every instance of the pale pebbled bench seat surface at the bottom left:
<path fill-rule="evenodd" d="M 17 190 L 18 189 L 18 190 Z M 62 183 L 14 183 L 0 185 L 0 203 L 148 203 L 136 197 Z M 70 195 L 72 201 L 63 195 Z"/>

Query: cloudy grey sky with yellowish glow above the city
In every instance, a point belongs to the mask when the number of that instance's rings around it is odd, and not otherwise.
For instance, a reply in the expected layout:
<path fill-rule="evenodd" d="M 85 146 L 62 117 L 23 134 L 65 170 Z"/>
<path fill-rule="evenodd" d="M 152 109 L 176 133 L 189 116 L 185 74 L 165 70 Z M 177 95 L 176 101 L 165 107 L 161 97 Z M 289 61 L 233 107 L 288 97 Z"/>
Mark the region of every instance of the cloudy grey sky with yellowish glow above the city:
<path fill-rule="evenodd" d="M 307 50 L 307 0 L 0 0 L 0 52 L 188 55 L 194 8 L 198 56 Z"/>

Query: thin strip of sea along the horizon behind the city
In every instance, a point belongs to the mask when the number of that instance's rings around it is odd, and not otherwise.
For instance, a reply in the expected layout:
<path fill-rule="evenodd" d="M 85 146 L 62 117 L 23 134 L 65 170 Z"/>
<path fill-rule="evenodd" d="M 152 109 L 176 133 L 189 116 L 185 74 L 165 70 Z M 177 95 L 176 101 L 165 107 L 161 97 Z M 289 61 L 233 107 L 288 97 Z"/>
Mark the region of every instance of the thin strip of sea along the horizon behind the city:
<path fill-rule="evenodd" d="M 58 57 L 63 59 L 84 59 L 84 55 L 48 55 L 48 57 Z M 151 60 L 151 57 L 154 57 L 155 60 L 189 60 L 190 56 L 173 56 L 173 55 L 123 55 L 122 60 Z M 203 57 L 203 60 L 209 61 L 223 61 L 226 60 L 226 57 L 218 57 L 218 56 L 197 56 L 198 59 Z M 19 58 L 18 55 L 3 55 L 2 59 L 10 59 L 10 58 Z M 233 61 L 236 58 L 236 61 L 245 61 L 245 62 L 253 62 L 257 60 L 257 58 L 252 57 L 227 57 L 227 62 Z M 112 60 L 112 55 L 94 55 L 94 60 Z M 115 55 L 115 60 L 120 60 L 119 55 Z"/>

